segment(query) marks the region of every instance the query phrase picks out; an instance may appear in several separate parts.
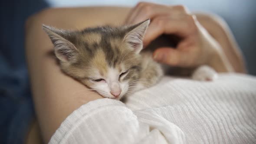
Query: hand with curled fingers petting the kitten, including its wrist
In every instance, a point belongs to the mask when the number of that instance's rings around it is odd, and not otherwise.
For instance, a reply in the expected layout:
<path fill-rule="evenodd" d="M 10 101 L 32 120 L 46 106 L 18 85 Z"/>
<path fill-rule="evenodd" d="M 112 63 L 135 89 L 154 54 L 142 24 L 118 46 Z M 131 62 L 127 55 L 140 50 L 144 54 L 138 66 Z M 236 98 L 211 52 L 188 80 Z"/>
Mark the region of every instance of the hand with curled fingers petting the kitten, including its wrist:
<path fill-rule="evenodd" d="M 181 37 L 176 49 L 161 47 L 154 51 L 153 57 L 158 62 L 180 67 L 210 65 L 217 72 L 232 71 L 219 43 L 186 7 L 138 3 L 131 10 L 126 23 L 135 24 L 148 18 L 151 24 L 143 40 L 144 46 L 162 34 Z"/>

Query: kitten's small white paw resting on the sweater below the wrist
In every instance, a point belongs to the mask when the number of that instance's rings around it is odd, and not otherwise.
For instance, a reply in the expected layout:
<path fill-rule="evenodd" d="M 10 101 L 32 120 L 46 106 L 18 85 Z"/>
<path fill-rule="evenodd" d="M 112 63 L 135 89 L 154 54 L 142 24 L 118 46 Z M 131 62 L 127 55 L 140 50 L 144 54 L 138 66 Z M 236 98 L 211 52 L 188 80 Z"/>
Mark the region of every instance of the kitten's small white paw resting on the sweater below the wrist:
<path fill-rule="evenodd" d="M 207 65 L 198 67 L 192 74 L 192 79 L 198 81 L 213 81 L 217 78 L 217 72 Z"/>

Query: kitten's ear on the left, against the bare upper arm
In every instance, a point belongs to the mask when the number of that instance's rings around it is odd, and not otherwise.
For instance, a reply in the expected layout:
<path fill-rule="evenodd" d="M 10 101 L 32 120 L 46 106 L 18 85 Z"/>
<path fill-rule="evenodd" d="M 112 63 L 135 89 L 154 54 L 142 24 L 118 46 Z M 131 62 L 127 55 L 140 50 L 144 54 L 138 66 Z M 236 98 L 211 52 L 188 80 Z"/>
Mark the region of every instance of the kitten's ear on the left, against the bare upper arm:
<path fill-rule="evenodd" d="M 51 26 L 43 25 L 43 30 L 48 34 L 55 49 L 56 57 L 62 62 L 75 61 L 78 50 L 67 38 L 70 32 L 62 29 L 56 29 Z"/>

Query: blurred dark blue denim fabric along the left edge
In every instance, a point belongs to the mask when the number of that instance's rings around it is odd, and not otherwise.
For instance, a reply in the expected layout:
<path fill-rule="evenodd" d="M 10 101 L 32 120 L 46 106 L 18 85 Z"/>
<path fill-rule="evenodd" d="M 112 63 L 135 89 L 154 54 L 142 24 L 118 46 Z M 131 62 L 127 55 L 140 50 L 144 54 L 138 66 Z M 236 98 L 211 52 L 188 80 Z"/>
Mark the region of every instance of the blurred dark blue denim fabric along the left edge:
<path fill-rule="evenodd" d="M 43 0 L 0 1 L 0 144 L 23 144 L 34 118 L 24 55 L 24 23 Z"/>

